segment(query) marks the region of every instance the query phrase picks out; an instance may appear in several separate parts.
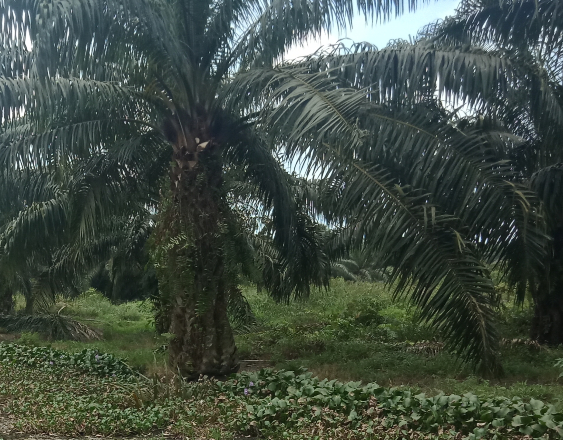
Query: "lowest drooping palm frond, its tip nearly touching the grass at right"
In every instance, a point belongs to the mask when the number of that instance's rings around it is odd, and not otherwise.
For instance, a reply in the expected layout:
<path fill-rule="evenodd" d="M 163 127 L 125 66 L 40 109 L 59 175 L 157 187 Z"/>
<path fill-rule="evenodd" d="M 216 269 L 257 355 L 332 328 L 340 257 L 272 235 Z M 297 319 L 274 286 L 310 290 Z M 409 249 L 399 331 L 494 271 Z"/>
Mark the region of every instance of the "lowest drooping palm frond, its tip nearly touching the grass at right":
<path fill-rule="evenodd" d="M 468 360 L 484 361 L 484 370 L 498 369 L 493 282 L 474 246 L 463 238 L 459 218 L 436 206 L 432 214 L 428 193 L 395 187 L 385 170 L 355 165 L 338 195 L 342 203 L 348 197 L 357 200 L 360 191 L 365 194 L 363 205 L 351 203 L 356 205 L 355 234 L 382 261 L 394 262 L 390 282 L 397 281 L 396 292 L 421 307 L 422 317 L 444 331 L 450 348 L 463 347 Z"/>

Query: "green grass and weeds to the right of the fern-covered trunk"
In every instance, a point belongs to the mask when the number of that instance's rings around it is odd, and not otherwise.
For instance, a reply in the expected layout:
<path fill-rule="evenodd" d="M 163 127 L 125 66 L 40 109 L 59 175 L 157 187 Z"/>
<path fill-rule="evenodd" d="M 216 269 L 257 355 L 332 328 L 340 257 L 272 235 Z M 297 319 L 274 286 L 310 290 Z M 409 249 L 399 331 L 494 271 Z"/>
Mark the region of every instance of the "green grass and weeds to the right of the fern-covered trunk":
<path fill-rule="evenodd" d="M 238 336 L 243 359 L 268 361 L 276 369 L 305 366 L 321 378 L 408 385 L 427 394 L 539 398 L 563 411 L 560 370 L 554 367 L 563 350 L 526 344 L 530 311 L 513 306 L 510 297 L 501 315 L 505 375 L 482 380 L 381 283 L 332 280 L 329 291 L 290 304 L 277 304 L 253 289 L 245 295 L 259 325 Z"/>

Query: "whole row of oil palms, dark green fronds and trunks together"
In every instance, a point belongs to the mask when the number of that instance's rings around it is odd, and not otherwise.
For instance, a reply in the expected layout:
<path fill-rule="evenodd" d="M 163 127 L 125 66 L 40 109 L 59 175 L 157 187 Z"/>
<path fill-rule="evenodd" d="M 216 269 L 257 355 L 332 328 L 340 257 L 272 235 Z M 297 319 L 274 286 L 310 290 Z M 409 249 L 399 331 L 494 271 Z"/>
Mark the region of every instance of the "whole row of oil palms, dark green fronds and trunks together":
<path fill-rule="evenodd" d="M 4 309 L 133 284 L 174 367 L 226 375 L 241 280 L 307 297 L 361 248 L 485 374 L 502 372 L 491 268 L 533 297 L 531 337 L 562 343 L 557 3 L 462 2 L 413 43 L 288 62 L 405 5 L 3 0 Z"/>

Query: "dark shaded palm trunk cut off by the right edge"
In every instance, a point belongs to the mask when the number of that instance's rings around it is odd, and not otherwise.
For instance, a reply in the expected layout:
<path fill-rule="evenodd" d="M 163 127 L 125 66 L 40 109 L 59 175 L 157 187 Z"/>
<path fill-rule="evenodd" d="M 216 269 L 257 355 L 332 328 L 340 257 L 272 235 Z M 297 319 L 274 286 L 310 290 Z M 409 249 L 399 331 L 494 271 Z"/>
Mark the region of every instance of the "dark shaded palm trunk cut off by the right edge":
<path fill-rule="evenodd" d="M 531 339 L 541 344 L 563 344 L 563 226 L 553 233 L 549 277 L 540 282 L 534 298 Z"/>

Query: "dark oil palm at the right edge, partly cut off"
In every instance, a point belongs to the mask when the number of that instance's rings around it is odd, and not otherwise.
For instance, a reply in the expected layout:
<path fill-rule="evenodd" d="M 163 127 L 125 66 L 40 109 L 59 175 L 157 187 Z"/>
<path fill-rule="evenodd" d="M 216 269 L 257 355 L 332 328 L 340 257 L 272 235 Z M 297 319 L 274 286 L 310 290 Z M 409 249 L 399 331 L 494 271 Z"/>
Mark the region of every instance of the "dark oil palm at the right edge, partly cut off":
<path fill-rule="evenodd" d="M 517 140 L 508 159 L 542 201 L 549 236 L 539 273 L 528 272 L 534 300 L 530 336 L 540 343 L 563 343 L 563 13 L 556 1 L 462 2 L 458 14 L 430 26 L 427 34 L 439 44 L 480 47 L 487 54 L 504 53 L 510 60 L 497 82 L 501 93 L 482 99 L 477 107 L 498 120 Z M 499 87 L 500 86 L 500 87 Z M 525 291 L 517 300 L 522 303 Z"/>

